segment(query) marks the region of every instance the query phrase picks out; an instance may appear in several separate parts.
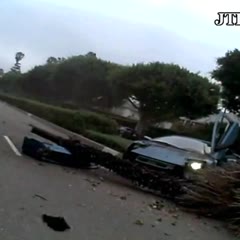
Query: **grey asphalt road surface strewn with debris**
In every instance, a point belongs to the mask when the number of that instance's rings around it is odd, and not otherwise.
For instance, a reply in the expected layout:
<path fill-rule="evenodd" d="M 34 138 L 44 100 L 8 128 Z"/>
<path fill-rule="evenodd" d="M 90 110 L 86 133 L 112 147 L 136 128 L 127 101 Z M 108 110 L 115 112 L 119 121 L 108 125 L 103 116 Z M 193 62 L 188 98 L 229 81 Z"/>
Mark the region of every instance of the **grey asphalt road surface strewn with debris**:
<path fill-rule="evenodd" d="M 149 205 L 161 199 L 103 169 L 74 170 L 16 155 L 6 136 L 21 152 L 28 124 L 54 131 L 0 102 L 0 239 L 236 239 L 221 223 L 183 213 L 168 202 L 162 210 L 152 209 Z M 53 231 L 42 214 L 64 217 L 71 229 Z"/>

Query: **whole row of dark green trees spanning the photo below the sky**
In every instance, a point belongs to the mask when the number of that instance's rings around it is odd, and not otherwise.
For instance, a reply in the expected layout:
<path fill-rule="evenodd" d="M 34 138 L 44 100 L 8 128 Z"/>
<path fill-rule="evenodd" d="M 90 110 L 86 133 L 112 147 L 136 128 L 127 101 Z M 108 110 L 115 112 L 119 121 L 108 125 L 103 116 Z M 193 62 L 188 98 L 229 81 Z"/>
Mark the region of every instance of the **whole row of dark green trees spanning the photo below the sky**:
<path fill-rule="evenodd" d="M 211 74 L 221 84 L 222 91 L 219 84 L 177 64 L 152 62 L 125 66 L 89 52 L 69 58 L 49 57 L 44 65 L 26 73 L 7 72 L 0 79 L 0 87 L 29 98 L 81 107 L 110 109 L 127 100 L 140 114 L 136 129 L 142 133 L 159 121 L 215 113 L 220 98 L 223 106 L 238 114 L 239 50 L 228 51 L 218 58 L 217 68 Z"/>

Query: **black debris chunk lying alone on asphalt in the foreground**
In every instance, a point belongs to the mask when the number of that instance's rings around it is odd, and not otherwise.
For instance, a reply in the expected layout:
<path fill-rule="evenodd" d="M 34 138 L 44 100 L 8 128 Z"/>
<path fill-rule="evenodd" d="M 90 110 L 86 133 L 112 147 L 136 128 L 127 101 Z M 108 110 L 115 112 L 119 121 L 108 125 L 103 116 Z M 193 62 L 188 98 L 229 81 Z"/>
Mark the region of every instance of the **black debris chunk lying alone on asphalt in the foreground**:
<path fill-rule="evenodd" d="M 62 217 L 53 217 L 46 214 L 42 215 L 42 220 L 51 229 L 58 232 L 64 232 L 70 229 L 70 226 L 66 223 L 65 219 Z"/>

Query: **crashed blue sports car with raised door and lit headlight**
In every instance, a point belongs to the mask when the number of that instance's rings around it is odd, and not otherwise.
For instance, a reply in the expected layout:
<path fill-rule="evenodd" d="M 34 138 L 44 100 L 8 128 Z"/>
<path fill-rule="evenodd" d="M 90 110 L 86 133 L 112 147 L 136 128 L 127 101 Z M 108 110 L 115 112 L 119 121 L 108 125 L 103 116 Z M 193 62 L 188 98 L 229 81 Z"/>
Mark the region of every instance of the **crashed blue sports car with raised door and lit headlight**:
<path fill-rule="evenodd" d="M 220 125 L 226 122 L 226 128 L 220 134 Z M 236 141 L 239 124 L 229 115 L 220 112 L 213 127 L 211 142 L 184 136 L 146 137 L 133 142 L 123 158 L 138 164 L 177 175 L 188 176 L 207 166 L 222 165 L 238 161 L 239 156 L 229 147 Z"/>

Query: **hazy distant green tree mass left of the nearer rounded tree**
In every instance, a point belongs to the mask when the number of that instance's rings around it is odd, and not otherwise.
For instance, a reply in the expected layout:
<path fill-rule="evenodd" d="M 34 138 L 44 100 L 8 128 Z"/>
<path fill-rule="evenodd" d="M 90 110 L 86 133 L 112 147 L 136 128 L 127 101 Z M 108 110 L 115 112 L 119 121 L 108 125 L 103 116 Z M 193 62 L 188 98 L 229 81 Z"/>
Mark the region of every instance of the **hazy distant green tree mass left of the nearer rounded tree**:
<path fill-rule="evenodd" d="M 68 59 L 49 57 L 45 65 L 23 74 L 21 87 L 29 97 L 111 108 L 122 100 L 117 102 L 111 90 L 109 75 L 116 67 L 120 66 L 98 59 L 91 52 Z"/>

